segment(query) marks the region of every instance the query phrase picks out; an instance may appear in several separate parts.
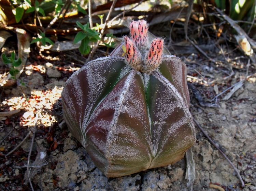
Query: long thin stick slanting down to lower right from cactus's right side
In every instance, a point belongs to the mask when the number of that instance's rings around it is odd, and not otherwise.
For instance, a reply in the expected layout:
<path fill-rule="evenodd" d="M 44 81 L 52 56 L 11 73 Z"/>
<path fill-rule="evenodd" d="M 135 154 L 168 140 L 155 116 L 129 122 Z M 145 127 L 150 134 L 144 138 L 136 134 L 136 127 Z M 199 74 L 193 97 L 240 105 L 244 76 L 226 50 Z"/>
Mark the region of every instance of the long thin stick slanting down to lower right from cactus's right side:
<path fill-rule="evenodd" d="M 207 137 L 207 139 L 210 141 L 210 143 L 212 143 L 213 146 L 216 147 L 216 149 L 224 156 L 224 158 L 228 161 L 228 163 L 231 165 L 231 167 L 234 169 L 234 171 L 236 172 L 240 182 L 241 182 L 241 186 L 245 187 L 244 185 L 244 181 L 240 175 L 240 173 L 238 172 L 238 169 L 234 166 L 234 164 L 229 160 L 229 158 L 225 155 L 225 153 L 223 153 L 223 151 L 221 149 L 219 149 L 219 147 L 213 142 L 213 140 L 209 137 L 209 135 L 203 130 L 203 128 L 201 127 L 201 125 L 199 125 L 199 123 L 197 122 L 197 120 L 193 117 L 193 120 L 195 122 L 195 124 L 197 125 L 197 127 L 201 130 L 201 132 L 204 134 L 205 137 Z"/>

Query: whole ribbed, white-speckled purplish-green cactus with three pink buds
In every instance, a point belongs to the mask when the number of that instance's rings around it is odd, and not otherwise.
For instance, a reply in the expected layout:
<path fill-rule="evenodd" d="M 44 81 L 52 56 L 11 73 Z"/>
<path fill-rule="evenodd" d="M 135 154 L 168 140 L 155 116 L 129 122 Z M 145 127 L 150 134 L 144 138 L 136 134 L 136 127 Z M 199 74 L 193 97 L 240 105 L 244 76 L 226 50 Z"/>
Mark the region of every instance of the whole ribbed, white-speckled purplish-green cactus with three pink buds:
<path fill-rule="evenodd" d="M 185 64 L 163 55 L 163 39 L 149 42 L 146 21 L 132 21 L 130 31 L 62 92 L 71 133 L 107 177 L 174 163 L 195 142 Z"/>

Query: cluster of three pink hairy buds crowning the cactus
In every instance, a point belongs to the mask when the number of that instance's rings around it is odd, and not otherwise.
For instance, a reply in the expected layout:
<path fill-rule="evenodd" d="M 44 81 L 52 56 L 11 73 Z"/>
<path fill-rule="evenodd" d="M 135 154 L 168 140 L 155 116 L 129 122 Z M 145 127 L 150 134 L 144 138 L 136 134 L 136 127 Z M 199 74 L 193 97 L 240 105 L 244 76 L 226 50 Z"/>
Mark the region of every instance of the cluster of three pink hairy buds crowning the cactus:
<path fill-rule="evenodd" d="M 147 42 L 148 24 L 145 20 L 130 23 L 130 38 L 124 36 L 125 58 L 134 69 L 151 73 L 161 63 L 163 39 L 155 38 L 151 45 Z"/>

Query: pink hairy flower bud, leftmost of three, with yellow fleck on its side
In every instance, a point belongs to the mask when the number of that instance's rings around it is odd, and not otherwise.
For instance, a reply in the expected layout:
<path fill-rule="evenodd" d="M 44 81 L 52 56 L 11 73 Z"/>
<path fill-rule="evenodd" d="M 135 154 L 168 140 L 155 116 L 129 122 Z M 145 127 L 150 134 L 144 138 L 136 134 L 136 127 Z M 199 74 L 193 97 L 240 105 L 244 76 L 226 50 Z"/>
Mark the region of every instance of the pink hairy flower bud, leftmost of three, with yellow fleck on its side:
<path fill-rule="evenodd" d="M 126 48 L 126 60 L 132 68 L 139 70 L 141 67 L 141 54 L 137 50 L 137 47 L 134 46 L 133 42 L 127 36 L 124 36 L 124 39 Z"/>

